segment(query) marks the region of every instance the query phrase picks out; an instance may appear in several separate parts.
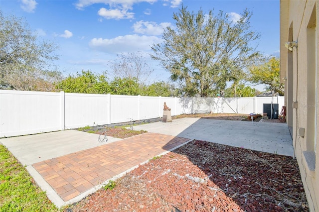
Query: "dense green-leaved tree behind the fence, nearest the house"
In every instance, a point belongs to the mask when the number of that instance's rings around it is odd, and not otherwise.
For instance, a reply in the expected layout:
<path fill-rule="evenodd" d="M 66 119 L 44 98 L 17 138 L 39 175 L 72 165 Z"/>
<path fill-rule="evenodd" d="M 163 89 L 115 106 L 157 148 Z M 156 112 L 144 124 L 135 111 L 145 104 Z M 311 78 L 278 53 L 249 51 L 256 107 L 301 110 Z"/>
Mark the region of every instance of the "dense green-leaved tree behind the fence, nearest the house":
<path fill-rule="evenodd" d="M 249 81 L 254 85 L 266 85 L 267 91 L 273 91 L 280 96 L 285 94 L 285 85 L 280 83 L 280 60 L 271 57 L 261 65 L 249 68 Z"/>

